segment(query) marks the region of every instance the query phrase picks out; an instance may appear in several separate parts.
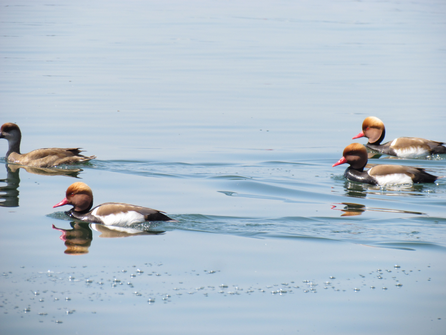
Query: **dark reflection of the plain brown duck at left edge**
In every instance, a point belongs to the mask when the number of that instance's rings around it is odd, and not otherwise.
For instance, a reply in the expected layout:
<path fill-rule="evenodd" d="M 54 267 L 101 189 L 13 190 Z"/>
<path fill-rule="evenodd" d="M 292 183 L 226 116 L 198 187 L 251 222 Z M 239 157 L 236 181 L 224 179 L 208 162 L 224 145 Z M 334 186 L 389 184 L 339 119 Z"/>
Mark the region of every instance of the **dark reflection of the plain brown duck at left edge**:
<path fill-rule="evenodd" d="M 5 164 L 6 178 L 0 179 L 0 183 L 6 183 L 5 186 L 0 187 L 0 206 L 3 207 L 18 207 L 19 206 L 19 191 L 20 184 L 19 172 L 20 169 L 24 169 L 26 172 L 34 175 L 42 176 L 68 176 L 73 178 L 79 178 L 78 174 L 82 172 L 82 169 L 59 169 L 59 168 L 43 168 L 43 167 L 30 167 L 17 164 Z M 1 201 L 4 199 L 4 201 Z"/>

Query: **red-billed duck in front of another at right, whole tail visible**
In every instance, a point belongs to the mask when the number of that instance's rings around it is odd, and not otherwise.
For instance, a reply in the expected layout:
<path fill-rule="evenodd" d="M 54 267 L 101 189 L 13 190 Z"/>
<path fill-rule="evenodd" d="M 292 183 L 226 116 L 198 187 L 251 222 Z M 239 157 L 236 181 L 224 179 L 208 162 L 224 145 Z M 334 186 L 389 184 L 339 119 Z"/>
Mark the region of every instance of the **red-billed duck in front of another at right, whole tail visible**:
<path fill-rule="evenodd" d="M 413 183 L 433 183 L 440 177 L 433 176 L 419 167 L 401 165 L 376 165 L 364 171 L 368 161 L 367 149 L 361 143 L 351 143 L 343 151 L 343 157 L 333 164 L 350 164 L 344 172 L 347 179 L 372 185 L 397 185 Z"/>

